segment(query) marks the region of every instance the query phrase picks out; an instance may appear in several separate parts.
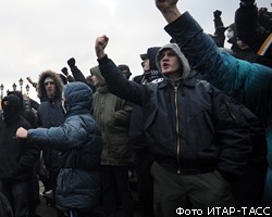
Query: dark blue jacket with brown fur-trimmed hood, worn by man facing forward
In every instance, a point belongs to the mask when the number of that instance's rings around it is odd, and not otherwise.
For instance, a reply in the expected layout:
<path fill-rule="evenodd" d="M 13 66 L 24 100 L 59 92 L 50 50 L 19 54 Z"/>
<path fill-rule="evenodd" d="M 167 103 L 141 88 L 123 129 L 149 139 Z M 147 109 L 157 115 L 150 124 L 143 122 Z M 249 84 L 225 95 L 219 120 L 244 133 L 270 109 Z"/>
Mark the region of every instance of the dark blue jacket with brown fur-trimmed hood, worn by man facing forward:
<path fill-rule="evenodd" d="M 55 93 L 53 98 L 48 98 L 46 92 L 44 82 L 47 77 L 51 77 L 55 84 Z M 39 127 L 58 127 L 64 123 L 65 114 L 61 105 L 62 89 L 63 85 L 57 73 L 46 71 L 40 74 L 37 88 L 38 98 L 41 99 L 41 103 L 37 111 Z M 59 153 L 55 150 L 49 150 L 46 146 L 42 149 L 42 157 L 49 170 L 58 173 L 58 155 Z"/>

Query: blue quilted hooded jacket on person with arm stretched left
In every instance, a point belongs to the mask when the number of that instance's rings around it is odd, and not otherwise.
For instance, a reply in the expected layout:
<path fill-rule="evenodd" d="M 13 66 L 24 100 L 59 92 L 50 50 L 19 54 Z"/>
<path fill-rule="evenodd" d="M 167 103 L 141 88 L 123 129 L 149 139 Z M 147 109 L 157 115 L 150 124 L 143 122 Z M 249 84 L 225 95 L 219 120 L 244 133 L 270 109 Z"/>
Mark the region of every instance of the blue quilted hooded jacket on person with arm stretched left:
<path fill-rule="evenodd" d="M 57 205 L 61 208 L 94 208 L 100 200 L 98 169 L 102 150 L 101 132 L 91 117 L 92 92 L 79 81 L 64 89 L 66 119 L 59 127 L 28 130 L 28 140 L 60 152 Z M 70 175 L 75 169 L 77 177 Z M 72 175 L 73 176 L 73 175 Z"/>

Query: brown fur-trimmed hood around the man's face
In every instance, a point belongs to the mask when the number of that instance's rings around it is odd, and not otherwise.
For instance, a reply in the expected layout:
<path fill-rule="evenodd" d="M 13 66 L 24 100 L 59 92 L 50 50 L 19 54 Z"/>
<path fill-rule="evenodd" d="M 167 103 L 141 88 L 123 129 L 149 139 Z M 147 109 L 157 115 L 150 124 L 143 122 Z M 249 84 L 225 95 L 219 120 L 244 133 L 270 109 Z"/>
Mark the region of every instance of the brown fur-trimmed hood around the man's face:
<path fill-rule="evenodd" d="M 40 74 L 39 80 L 38 80 L 38 87 L 37 87 L 37 92 L 38 92 L 38 98 L 39 99 L 48 99 L 46 88 L 45 88 L 45 79 L 47 77 L 50 77 L 54 80 L 55 84 L 55 98 L 61 98 L 62 89 L 63 89 L 63 84 L 61 81 L 61 78 L 59 74 L 52 72 L 52 71 L 45 71 Z"/>

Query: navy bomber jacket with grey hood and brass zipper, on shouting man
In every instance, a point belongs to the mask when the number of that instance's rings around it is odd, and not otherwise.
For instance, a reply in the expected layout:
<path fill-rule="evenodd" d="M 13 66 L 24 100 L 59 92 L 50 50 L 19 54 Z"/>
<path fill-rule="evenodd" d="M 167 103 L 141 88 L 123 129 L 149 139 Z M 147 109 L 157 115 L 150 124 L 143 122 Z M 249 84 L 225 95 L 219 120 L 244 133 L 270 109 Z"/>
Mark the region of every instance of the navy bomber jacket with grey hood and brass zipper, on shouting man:
<path fill-rule="evenodd" d="M 231 179 L 238 177 L 251 152 L 242 105 L 207 81 L 189 76 L 189 64 L 177 44 L 164 49 L 180 58 L 178 80 L 166 78 L 144 86 L 125 80 L 106 55 L 98 61 L 109 90 L 143 106 L 149 151 L 165 169 L 176 174 L 218 169 Z"/>

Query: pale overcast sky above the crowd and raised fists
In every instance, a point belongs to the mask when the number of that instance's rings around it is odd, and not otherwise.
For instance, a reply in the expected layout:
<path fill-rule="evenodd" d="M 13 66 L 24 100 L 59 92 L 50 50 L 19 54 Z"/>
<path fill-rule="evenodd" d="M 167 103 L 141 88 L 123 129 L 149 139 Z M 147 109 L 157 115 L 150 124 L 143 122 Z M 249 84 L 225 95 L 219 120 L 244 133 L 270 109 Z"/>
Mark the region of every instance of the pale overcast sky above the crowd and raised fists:
<path fill-rule="evenodd" d="M 234 21 L 238 0 L 180 0 L 206 33 L 213 34 L 213 11 L 221 10 L 225 26 Z M 272 11 L 272 0 L 256 0 Z M 153 0 L 0 0 L 0 84 L 12 84 L 52 69 L 60 73 L 75 58 L 85 76 L 97 65 L 94 44 L 106 34 L 108 55 L 127 64 L 133 76 L 141 74 L 139 54 L 148 47 L 168 43 L 166 22 Z M 227 43 L 226 43 L 227 46 Z M 32 97 L 36 93 L 30 89 Z"/>

